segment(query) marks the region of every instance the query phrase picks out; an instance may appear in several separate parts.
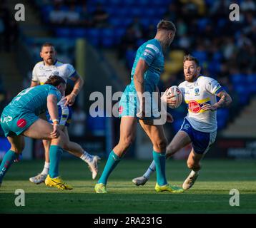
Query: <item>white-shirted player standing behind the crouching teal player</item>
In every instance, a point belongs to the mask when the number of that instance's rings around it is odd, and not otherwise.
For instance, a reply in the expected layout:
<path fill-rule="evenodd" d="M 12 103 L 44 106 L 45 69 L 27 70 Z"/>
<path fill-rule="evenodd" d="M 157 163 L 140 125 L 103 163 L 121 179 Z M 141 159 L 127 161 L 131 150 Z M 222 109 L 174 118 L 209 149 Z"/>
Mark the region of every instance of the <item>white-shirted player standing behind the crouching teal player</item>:
<path fill-rule="evenodd" d="M 36 63 L 34 66 L 31 80 L 31 87 L 44 84 L 49 76 L 53 74 L 59 75 L 61 78 L 64 78 L 64 81 L 67 82 L 68 79 L 74 81 L 74 88 L 69 95 L 64 96 L 58 103 L 59 110 L 59 128 L 65 133 L 68 140 L 67 151 L 72 155 L 80 157 L 84 162 L 87 162 L 90 170 L 92 171 L 92 179 L 94 179 L 98 172 L 97 162 L 99 160 L 98 156 L 92 156 L 76 142 L 71 142 L 69 140 L 69 133 L 67 127 L 69 126 L 72 118 L 72 108 L 71 105 L 74 104 L 74 101 L 81 90 L 84 81 L 78 75 L 77 71 L 71 64 L 61 63 L 56 59 L 56 51 L 54 46 L 51 43 L 44 43 L 41 46 L 41 58 L 43 61 Z M 46 117 L 49 123 L 52 123 L 52 120 L 49 116 L 49 113 L 46 112 Z M 29 180 L 35 184 L 40 184 L 44 182 L 46 176 L 49 172 L 49 141 L 43 140 L 44 150 L 45 150 L 45 163 L 44 169 L 36 175 L 35 177 L 29 178 Z"/>

